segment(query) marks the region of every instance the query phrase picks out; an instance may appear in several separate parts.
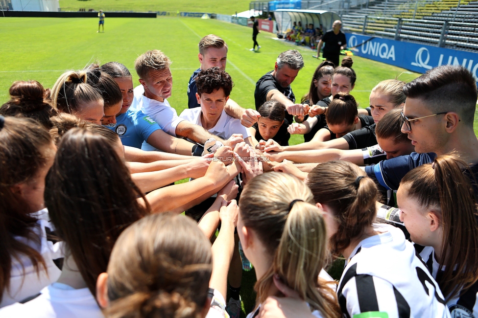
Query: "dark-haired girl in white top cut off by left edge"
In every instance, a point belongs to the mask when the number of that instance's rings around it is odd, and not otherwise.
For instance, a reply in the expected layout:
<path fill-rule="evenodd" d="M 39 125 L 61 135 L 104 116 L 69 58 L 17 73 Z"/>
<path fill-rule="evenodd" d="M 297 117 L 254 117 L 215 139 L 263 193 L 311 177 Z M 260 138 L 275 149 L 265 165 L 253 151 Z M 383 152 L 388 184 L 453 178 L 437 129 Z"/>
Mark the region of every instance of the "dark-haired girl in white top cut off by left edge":
<path fill-rule="evenodd" d="M 0 115 L 0 307 L 36 295 L 60 275 L 53 260 L 63 253 L 47 238 L 53 227 L 43 199 L 55 151 L 36 121 Z"/>

